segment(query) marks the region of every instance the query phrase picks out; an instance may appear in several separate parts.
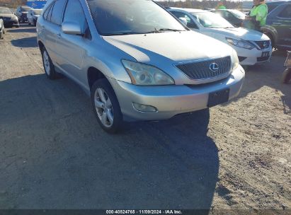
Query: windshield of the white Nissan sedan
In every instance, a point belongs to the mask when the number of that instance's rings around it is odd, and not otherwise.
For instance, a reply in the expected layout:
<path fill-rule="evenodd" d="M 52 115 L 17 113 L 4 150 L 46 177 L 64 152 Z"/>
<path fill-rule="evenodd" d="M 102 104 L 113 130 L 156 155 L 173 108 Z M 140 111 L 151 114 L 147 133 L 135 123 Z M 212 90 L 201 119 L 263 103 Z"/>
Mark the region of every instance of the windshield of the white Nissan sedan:
<path fill-rule="evenodd" d="M 226 19 L 211 12 L 193 12 L 191 13 L 197 21 L 205 28 L 234 28 L 234 25 Z"/>

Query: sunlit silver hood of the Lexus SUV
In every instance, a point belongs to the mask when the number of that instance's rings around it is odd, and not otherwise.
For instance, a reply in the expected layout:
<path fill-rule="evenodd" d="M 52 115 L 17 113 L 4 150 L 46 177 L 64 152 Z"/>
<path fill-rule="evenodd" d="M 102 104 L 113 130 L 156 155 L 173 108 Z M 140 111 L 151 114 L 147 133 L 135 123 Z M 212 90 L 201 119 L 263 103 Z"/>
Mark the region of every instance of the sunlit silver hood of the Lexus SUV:
<path fill-rule="evenodd" d="M 186 62 L 232 54 L 232 47 L 192 30 L 145 35 L 104 36 L 103 39 L 130 54 L 138 62 L 145 63 L 165 58 L 174 62 Z"/>

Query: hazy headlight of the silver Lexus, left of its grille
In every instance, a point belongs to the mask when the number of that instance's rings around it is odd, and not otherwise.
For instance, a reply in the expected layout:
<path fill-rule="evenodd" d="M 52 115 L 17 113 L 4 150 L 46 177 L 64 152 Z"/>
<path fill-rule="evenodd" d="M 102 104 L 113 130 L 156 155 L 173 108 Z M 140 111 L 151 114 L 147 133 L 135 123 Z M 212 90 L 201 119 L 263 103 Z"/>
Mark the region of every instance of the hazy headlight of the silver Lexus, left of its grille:
<path fill-rule="evenodd" d="M 132 83 L 135 85 L 151 86 L 151 85 L 171 85 L 175 82 L 168 74 L 160 69 L 147 64 L 131 62 L 122 59 L 122 64 L 125 66 Z"/>

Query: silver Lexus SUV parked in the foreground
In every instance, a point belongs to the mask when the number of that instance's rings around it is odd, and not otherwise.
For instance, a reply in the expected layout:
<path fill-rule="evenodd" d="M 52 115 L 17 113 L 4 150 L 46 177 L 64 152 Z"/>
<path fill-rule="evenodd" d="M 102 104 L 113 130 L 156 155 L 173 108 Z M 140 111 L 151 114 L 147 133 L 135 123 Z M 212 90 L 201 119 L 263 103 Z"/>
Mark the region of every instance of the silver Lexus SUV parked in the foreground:
<path fill-rule="evenodd" d="M 62 73 L 84 88 L 107 132 L 225 103 L 244 81 L 232 47 L 154 1 L 54 0 L 37 29 L 47 77 Z"/>

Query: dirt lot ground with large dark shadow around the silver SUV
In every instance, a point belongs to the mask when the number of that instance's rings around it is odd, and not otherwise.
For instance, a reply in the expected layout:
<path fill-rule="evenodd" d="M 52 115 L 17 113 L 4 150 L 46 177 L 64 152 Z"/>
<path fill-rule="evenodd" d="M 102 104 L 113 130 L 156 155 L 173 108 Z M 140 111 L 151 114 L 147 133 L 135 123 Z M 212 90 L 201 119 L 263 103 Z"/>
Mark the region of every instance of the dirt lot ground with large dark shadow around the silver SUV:
<path fill-rule="evenodd" d="M 42 69 L 35 28 L 0 40 L 1 209 L 291 209 L 285 52 L 232 103 L 109 135 L 85 93 Z"/>

